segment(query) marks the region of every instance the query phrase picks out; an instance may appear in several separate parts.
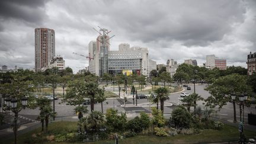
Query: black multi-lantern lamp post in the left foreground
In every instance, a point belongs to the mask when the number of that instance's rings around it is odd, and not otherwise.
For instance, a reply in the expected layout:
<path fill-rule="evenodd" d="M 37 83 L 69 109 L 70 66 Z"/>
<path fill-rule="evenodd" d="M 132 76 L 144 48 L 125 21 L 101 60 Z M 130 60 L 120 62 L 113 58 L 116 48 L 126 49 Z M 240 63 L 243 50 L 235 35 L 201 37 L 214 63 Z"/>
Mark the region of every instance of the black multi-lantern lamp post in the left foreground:
<path fill-rule="evenodd" d="M 13 97 L 10 98 L 9 95 L 7 98 L 5 98 L 5 104 L 6 104 L 6 109 L 7 110 L 11 110 L 15 116 L 14 116 L 14 143 L 17 143 L 17 130 L 18 130 L 18 126 L 17 126 L 17 122 L 18 122 L 18 113 L 22 110 L 25 109 L 25 107 L 27 107 L 27 100 L 28 98 L 24 97 L 21 98 L 21 106 L 20 104 L 18 104 L 20 101 L 17 100 L 17 98 Z"/>

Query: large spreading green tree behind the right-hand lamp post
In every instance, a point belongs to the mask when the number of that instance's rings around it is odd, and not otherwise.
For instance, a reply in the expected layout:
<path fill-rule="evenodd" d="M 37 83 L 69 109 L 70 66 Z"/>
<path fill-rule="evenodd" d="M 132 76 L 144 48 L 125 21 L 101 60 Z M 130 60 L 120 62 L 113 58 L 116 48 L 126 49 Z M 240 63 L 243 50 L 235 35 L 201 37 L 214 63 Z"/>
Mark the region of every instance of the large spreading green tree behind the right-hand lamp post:
<path fill-rule="evenodd" d="M 233 103 L 234 121 L 236 121 L 235 103 L 239 103 L 239 101 L 238 98 L 232 101 L 231 94 L 240 95 L 244 92 L 250 93 L 246 77 L 237 73 L 216 79 L 206 90 L 211 94 L 210 97 L 206 98 L 206 106 L 210 108 L 216 106 L 222 108 L 228 102 Z"/>

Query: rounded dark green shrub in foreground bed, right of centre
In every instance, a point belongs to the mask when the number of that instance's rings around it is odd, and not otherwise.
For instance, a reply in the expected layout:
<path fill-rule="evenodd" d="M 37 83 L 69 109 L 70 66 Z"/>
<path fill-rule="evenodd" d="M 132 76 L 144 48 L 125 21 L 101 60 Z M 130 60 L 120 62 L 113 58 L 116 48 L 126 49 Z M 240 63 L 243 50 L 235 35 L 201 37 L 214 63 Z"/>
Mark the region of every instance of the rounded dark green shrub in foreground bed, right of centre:
<path fill-rule="evenodd" d="M 182 105 L 178 105 L 171 114 L 170 122 L 174 124 L 175 127 L 187 128 L 190 126 L 192 117 L 191 114 L 187 111 Z M 172 125 L 172 124 L 171 124 Z"/>

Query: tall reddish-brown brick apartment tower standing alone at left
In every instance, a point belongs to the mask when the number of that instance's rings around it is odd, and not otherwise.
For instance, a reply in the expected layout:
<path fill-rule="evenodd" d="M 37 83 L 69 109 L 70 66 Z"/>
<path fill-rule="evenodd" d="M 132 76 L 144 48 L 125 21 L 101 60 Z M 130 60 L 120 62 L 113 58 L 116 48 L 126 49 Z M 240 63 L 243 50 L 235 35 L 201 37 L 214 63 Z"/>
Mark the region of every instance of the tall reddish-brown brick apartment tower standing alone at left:
<path fill-rule="evenodd" d="M 49 28 L 35 29 L 35 70 L 50 66 L 55 56 L 55 31 Z"/>

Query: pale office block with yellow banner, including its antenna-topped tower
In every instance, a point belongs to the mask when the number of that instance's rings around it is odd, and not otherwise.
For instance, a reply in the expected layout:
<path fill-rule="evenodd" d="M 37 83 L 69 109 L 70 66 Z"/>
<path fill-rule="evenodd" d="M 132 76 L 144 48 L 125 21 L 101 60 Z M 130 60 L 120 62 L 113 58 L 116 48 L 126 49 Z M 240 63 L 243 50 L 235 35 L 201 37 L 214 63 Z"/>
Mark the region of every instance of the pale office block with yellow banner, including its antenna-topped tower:
<path fill-rule="evenodd" d="M 149 59 L 148 48 L 130 47 L 130 44 L 119 44 L 119 50 L 110 50 L 108 30 L 100 30 L 103 35 L 98 36 L 94 59 L 89 60 L 89 72 L 97 76 L 104 73 L 137 73 L 138 75 L 149 75 L 152 69 L 156 69 L 156 62 Z M 104 36 L 104 37 L 103 37 Z M 91 43 L 91 42 L 90 42 Z M 89 53 L 93 45 L 89 43 Z"/>

